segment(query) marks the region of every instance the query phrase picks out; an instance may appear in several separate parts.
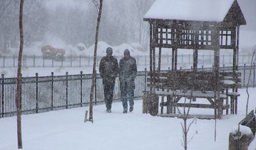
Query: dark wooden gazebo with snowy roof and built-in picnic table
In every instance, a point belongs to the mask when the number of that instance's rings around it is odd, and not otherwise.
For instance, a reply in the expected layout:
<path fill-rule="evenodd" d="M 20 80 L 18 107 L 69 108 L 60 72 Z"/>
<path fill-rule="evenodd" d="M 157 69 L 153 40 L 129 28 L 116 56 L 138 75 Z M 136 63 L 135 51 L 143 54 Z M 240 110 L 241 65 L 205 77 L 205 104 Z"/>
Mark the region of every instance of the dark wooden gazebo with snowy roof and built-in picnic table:
<path fill-rule="evenodd" d="M 170 116 L 175 116 L 176 107 L 214 109 L 214 118 L 221 118 L 223 110 L 228 113 L 230 107 L 233 113 L 233 102 L 239 96 L 238 77 L 241 76 L 237 72 L 240 25 L 246 24 L 238 2 L 156 0 L 144 16 L 144 21 L 150 24 L 150 77 L 147 80 L 150 96 L 147 104 L 144 104 L 147 111 L 159 115 L 160 105 L 161 115 L 164 115 L 163 107 L 166 106 L 167 115 Z M 162 48 L 172 50 L 169 71 L 161 70 Z M 194 49 L 191 71 L 177 70 L 178 49 Z M 233 49 L 232 73 L 220 73 L 219 49 Z M 198 50 L 214 51 L 213 71 L 197 71 Z M 233 89 L 233 93 L 229 93 L 229 88 Z M 159 103 L 160 96 L 162 100 Z M 181 98 L 205 98 L 210 104 L 179 103 Z M 224 100 L 226 104 L 223 104 Z"/>

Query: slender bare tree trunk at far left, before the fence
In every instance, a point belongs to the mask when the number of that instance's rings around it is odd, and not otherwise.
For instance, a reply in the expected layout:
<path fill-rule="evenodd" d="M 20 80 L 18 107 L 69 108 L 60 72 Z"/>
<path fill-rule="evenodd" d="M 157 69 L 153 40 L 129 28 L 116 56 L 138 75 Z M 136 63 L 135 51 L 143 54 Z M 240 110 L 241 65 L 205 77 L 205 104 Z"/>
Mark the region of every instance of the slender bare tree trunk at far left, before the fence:
<path fill-rule="evenodd" d="M 21 136 L 21 108 L 20 108 L 20 89 L 21 89 L 21 60 L 23 52 L 23 0 L 20 1 L 20 51 L 18 57 L 18 71 L 16 82 L 16 112 L 17 112 L 17 135 L 18 135 L 18 149 L 22 149 L 22 136 Z"/>

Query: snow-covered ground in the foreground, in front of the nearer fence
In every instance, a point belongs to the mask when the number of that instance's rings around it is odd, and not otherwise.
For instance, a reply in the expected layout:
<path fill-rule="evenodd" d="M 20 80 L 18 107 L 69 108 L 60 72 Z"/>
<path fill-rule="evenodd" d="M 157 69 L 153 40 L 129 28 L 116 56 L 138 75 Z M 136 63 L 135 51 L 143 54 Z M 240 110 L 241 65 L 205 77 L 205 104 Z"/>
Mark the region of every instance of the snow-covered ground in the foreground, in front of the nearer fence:
<path fill-rule="evenodd" d="M 256 88 L 250 88 L 249 111 L 256 106 Z M 246 89 L 239 90 L 238 115 L 224 115 L 217 120 L 197 120 L 192 124 L 188 149 L 228 149 L 229 132 L 238 127 L 246 112 Z M 142 114 L 142 101 L 136 101 L 134 112 L 123 114 L 122 103 L 112 104 L 112 113 L 104 105 L 93 108 L 93 124 L 84 123 L 88 107 L 22 116 L 23 149 L 183 149 L 181 122 L 178 118 L 162 118 Z M 203 110 L 197 110 L 203 113 Z M 191 121 L 191 120 L 189 120 Z M 197 134 L 196 134 L 197 132 Z M 0 149 L 17 149 L 16 116 L 0 118 Z M 249 150 L 256 149 L 256 138 Z"/>

